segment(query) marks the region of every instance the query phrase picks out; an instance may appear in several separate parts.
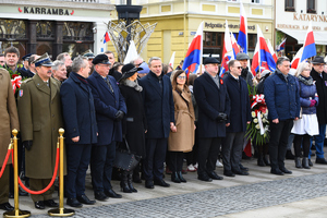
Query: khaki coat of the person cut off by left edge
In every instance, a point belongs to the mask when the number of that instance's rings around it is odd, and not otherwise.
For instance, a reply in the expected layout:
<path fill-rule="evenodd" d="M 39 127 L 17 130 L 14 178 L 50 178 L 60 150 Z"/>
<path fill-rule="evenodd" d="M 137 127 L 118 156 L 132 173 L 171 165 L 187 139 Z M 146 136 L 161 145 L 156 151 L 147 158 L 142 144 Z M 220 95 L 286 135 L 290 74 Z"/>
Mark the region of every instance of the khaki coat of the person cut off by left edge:
<path fill-rule="evenodd" d="M 20 130 L 16 101 L 9 72 L 0 69 L 0 168 L 7 155 L 13 129 Z M 11 157 L 8 164 L 11 164 Z"/>

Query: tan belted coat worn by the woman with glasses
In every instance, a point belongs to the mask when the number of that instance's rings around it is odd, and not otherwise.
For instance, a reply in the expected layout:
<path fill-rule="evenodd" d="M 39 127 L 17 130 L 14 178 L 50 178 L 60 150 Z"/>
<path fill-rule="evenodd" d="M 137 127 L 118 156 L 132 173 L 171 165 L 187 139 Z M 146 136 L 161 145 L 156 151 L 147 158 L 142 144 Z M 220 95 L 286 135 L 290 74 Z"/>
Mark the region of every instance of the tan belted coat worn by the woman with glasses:
<path fill-rule="evenodd" d="M 177 132 L 170 132 L 168 138 L 168 150 L 191 152 L 194 145 L 194 109 L 191 92 L 172 90 L 174 104 L 174 120 Z"/>

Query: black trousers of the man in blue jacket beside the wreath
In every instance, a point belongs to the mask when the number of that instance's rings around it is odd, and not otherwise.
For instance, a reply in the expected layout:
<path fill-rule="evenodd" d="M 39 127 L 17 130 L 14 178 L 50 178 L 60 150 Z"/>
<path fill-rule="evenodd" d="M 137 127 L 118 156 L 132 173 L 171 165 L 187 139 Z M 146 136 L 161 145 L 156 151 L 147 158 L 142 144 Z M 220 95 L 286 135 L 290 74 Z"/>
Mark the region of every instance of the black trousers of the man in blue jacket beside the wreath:
<path fill-rule="evenodd" d="M 289 135 L 293 128 L 293 120 L 283 120 L 279 123 L 270 121 L 269 157 L 271 169 L 284 168 L 284 156 L 287 152 Z"/>

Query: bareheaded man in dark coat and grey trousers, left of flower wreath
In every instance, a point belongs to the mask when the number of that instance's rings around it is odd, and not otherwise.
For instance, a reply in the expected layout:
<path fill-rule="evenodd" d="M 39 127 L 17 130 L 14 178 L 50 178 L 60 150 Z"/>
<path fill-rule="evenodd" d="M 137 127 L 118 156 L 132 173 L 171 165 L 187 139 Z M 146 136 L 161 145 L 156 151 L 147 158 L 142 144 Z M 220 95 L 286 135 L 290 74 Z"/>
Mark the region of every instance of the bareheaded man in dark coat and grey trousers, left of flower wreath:
<path fill-rule="evenodd" d="M 227 120 L 230 125 L 226 130 L 227 135 L 221 150 L 223 174 L 227 177 L 247 175 L 249 172 L 240 169 L 246 123 L 251 122 L 247 84 L 241 77 L 242 66 L 239 61 L 229 61 L 228 68 L 230 73 L 223 78 L 223 82 L 227 86 L 231 108 L 230 117 Z"/>

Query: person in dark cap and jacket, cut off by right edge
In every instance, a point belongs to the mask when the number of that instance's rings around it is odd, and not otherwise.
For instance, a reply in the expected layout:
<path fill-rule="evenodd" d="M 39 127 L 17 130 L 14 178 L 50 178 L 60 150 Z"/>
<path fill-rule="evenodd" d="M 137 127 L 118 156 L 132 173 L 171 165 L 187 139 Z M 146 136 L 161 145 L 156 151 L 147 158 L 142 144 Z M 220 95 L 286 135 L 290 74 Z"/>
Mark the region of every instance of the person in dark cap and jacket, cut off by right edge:
<path fill-rule="evenodd" d="M 327 74 L 324 72 L 326 63 L 324 57 L 315 57 L 312 63 L 313 69 L 311 71 L 311 76 L 316 82 L 317 94 L 319 97 L 319 104 L 317 106 L 319 135 L 315 136 L 316 164 L 327 165 L 327 160 L 324 157 L 324 140 L 327 124 Z"/>

